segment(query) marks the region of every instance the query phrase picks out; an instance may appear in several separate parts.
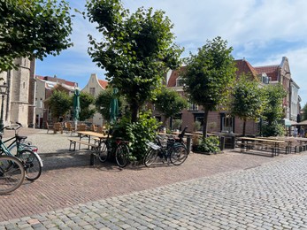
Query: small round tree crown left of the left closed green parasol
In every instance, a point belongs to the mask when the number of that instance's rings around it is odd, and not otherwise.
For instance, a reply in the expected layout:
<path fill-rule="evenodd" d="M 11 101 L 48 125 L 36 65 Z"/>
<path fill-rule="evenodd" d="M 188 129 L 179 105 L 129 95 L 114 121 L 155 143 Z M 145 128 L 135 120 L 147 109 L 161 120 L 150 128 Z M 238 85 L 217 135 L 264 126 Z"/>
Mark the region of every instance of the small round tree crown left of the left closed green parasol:
<path fill-rule="evenodd" d="M 54 90 L 48 100 L 51 114 L 54 119 L 65 117 L 65 114 L 70 111 L 73 99 L 64 91 Z"/>

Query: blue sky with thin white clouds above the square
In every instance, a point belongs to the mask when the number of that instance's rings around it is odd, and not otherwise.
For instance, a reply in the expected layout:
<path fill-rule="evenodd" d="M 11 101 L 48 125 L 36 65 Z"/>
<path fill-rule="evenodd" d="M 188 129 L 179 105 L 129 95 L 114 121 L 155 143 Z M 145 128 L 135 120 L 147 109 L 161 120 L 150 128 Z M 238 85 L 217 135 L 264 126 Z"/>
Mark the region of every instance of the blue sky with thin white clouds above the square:
<path fill-rule="evenodd" d="M 253 66 L 280 65 L 289 60 L 292 78 L 300 86 L 303 105 L 307 103 L 307 1 L 305 0 L 123 0 L 134 12 L 138 7 L 165 11 L 173 24 L 175 42 L 184 47 L 182 58 L 196 53 L 216 36 L 234 48 L 235 59 L 245 58 Z M 84 10 L 85 0 L 72 7 Z M 91 73 L 104 79 L 104 70 L 88 56 L 88 34 L 99 38 L 88 20 L 73 19 L 73 48 L 57 57 L 36 62 L 37 75 L 57 75 L 85 87 Z"/>

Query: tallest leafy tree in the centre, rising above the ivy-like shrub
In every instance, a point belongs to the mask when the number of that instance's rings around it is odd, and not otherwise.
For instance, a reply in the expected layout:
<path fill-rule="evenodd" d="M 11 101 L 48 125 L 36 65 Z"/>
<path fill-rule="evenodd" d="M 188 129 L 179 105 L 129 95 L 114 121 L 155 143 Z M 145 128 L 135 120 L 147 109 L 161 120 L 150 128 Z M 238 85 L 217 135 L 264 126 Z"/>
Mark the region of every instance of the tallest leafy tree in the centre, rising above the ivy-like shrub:
<path fill-rule="evenodd" d="M 135 122 L 166 69 L 180 64 L 182 50 L 173 43 L 173 24 L 164 12 L 152 8 L 139 8 L 130 15 L 120 0 L 89 0 L 87 8 L 89 21 L 96 22 L 104 35 L 103 42 L 89 36 L 88 53 L 125 96 Z"/>

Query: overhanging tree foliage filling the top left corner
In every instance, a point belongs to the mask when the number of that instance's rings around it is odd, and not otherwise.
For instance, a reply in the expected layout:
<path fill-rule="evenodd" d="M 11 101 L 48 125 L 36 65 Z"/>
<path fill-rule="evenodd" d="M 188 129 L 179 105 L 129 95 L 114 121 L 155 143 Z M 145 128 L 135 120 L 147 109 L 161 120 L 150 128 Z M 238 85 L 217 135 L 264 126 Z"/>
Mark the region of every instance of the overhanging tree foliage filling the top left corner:
<path fill-rule="evenodd" d="M 73 45 L 65 0 L 0 1 L 0 73 L 17 68 L 15 58 L 56 56 Z"/>

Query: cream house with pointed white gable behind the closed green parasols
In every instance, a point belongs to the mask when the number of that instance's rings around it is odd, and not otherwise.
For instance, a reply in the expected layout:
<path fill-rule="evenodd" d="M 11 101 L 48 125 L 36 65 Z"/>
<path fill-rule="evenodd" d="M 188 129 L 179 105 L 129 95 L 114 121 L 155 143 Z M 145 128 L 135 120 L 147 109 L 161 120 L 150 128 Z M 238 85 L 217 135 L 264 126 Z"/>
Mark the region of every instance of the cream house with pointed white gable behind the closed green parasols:
<path fill-rule="evenodd" d="M 108 81 L 106 80 L 99 80 L 96 73 L 92 73 L 90 75 L 90 78 L 88 80 L 88 84 L 82 88 L 82 92 L 87 92 L 88 94 L 94 96 L 95 98 L 108 86 Z M 104 125 L 104 119 L 102 115 L 98 112 L 94 114 L 94 117 L 92 120 L 90 120 L 91 123 L 97 125 L 97 126 L 103 126 Z"/>

